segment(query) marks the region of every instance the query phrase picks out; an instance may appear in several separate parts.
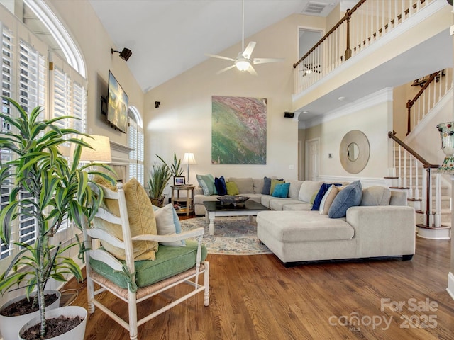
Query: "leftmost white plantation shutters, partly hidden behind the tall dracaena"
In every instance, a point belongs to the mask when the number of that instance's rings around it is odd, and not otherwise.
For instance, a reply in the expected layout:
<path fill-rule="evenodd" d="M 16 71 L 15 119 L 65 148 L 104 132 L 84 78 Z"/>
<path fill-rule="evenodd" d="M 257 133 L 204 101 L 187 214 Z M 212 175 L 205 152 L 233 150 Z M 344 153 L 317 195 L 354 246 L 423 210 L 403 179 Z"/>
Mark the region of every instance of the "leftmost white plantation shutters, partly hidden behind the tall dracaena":
<path fill-rule="evenodd" d="M 1 12 L 1 94 L 14 98 L 26 112 L 31 112 L 36 106 L 44 109 L 48 104 L 48 67 L 47 46 L 35 38 L 28 28 L 18 23 L 16 18 L 8 12 Z M 18 112 L 6 101 L 2 101 L 1 110 L 8 115 L 18 115 Z M 44 110 L 41 118 L 46 118 Z M 3 131 L 12 130 L 6 122 L 0 122 Z M 16 132 L 16 131 L 13 131 Z M 8 162 L 15 157 L 13 154 L 0 150 L 1 162 Z M 12 174 L 11 174 L 12 175 Z M 9 199 L 12 180 L 1 183 L 1 208 Z M 19 192 L 19 198 L 26 198 L 25 192 Z M 36 238 L 36 222 L 27 217 L 27 210 L 32 206 L 21 208 L 21 218 L 11 225 L 9 247 L 1 242 L 0 258 L 13 255 L 13 242 L 33 244 Z"/>

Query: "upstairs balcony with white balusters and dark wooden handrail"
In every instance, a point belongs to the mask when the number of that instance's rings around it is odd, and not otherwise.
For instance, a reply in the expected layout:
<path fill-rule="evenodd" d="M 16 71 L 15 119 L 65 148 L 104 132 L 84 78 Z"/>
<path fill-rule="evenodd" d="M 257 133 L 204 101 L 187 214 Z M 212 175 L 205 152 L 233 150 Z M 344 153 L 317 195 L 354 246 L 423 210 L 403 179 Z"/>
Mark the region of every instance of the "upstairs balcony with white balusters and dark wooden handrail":
<path fill-rule="evenodd" d="M 445 0 L 360 0 L 294 64 L 300 122 L 453 67 L 452 11 Z"/>

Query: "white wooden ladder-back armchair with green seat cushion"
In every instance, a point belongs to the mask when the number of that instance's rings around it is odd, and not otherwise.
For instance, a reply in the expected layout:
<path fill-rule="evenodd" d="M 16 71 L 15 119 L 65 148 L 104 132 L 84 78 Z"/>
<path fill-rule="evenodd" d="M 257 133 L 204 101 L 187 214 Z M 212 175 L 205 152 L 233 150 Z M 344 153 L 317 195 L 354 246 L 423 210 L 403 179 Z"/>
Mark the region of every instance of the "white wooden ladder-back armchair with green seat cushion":
<path fill-rule="evenodd" d="M 99 307 L 100 310 L 129 331 L 131 340 L 136 340 L 138 339 L 138 326 L 148 322 L 162 312 L 170 310 L 170 308 L 189 299 L 189 297 L 204 292 L 204 305 L 208 306 L 209 263 L 208 261 L 202 261 L 202 257 L 206 257 L 206 249 L 201 244 L 204 229 L 198 228 L 189 232 L 168 236 L 144 234 L 131 237 L 123 185 L 119 183 L 117 185 L 117 191 L 104 188 L 104 199 L 106 198 L 118 201 L 120 216 L 118 217 L 106 209 L 100 208 L 96 214 L 96 218 L 115 225 L 121 225 L 123 241 L 107 232 L 106 229 L 96 227 L 96 222 L 84 229 L 84 241 L 87 248 L 85 254 L 87 260 L 89 313 L 94 313 L 95 306 Z M 194 237 L 197 238 L 197 242 L 194 241 Z M 188 240 L 189 238 L 193 240 Z M 155 261 L 134 261 L 133 241 L 175 242 L 183 239 L 185 240 L 186 246 L 160 245 L 155 254 Z M 124 249 L 126 261 L 118 260 L 102 246 L 96 248 L 96 244 L 99 245 L 99 242 L 96 242 L 96 240 L 99 240 L 101 243 L 108 242 L 119 249 Z M 175 260 L 175 256 L 177 256 L 177 260 Z M 174 264 L 169 264 L 172 261 L 174 261 Z M 173 273 L 170 272 L 170 268 L 173 269 Z M 203 283 L 200 283 L 201 274 L 203 274 Z M 153 283 L 148 284 L 148 282 Z M 192 286 L 189 290 L 182 290 L 184 292 L 189 291 L 189 293 L 184 293 L 181 297 L 175 297 L 176 300 L 158 310 L 153 311 L 150 308 L 150 314 L 138 319 L 136 308 L 138 302 L 165 292 L 165 290 L 173 288 L 180 283 L 187 283 Z M 97 290 L 94 290 L 95 284 L 99 285 L 99 288 L 96 287 L 98 288 Z M 96 300 L 96 297 L 99 298 L 99 294 L 106 291 L 116 295 L 116 297 L 128 304 L 127 321 L 112 312 L 109 307 L 103 305 L 99 300 Z"/>

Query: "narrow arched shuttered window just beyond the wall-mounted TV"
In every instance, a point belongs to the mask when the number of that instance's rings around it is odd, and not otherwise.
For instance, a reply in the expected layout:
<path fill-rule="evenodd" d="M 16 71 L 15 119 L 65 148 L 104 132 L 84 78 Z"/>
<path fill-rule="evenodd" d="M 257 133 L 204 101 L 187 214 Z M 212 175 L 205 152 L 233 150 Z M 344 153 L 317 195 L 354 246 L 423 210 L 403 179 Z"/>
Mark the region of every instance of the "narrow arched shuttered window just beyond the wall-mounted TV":
<path fill-rule="evenodd" d="M 137 108 L 130 106 L 128 110 L 129 129 L 128 147 L 133 149 L 129 152 L 129 179 L 135 177 L 144 185 L 143 174 L 143 121 Z"/>

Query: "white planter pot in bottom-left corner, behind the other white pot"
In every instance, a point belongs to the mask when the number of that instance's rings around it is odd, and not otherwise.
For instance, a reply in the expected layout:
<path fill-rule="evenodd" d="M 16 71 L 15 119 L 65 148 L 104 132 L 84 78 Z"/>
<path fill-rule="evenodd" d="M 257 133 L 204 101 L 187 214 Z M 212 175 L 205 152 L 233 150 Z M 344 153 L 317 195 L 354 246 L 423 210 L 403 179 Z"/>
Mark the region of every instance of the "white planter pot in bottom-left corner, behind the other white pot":
<path fill-rule="evenodd" d="M 62 296 L 58 290 L 45 290 L 45 294 L 52 294 L 55 293 L 57 294 L 57 301 L 52 303 L 52 305 L 49 305 L 45 307 L 45 310 L 52 310 L 57 307 L 60 307 L 60 297 Z M 31 296 L 35 296 L 35 292 L 31 293 Z M 0 307 L 0 310 L 3 310 L 4 308 L 8 307 L 9 305 L 13 304 L 14 302 L 22 300 L 26 295 L 21 295 L 18 297 L 14 297 L 12 300 L 6 302 L 4 305 Z M 36 312 L 28 313 L 25 315 L 20 315 L 18 317 L 4 317 L 3 315 L 0 315 L 0 334 L 3 336 L 4 340 L 17 340 L 17 333 L 21 327 L 28 322 L 28 320 L 33 319 L 34 317 L 39 317 L 39 310 Z"/>

